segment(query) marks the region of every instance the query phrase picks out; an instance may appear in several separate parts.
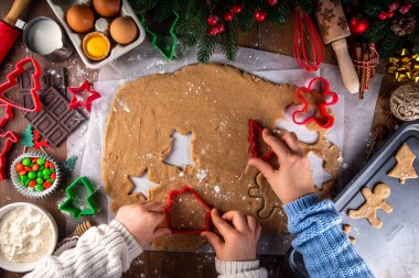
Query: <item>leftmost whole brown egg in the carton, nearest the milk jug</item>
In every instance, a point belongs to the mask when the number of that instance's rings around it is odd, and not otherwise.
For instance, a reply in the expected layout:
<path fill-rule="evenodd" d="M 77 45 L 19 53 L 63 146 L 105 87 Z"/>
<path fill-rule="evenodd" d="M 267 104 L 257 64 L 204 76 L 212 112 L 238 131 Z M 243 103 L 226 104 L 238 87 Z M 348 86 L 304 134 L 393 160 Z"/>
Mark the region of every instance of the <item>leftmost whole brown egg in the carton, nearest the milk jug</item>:
<path fill-rule="evenodd" d="M 93 11 L 83 4 L 73 4 L 66 14 L 68 26 L 77 33 L 87 33 L 95 25 Z"/>

